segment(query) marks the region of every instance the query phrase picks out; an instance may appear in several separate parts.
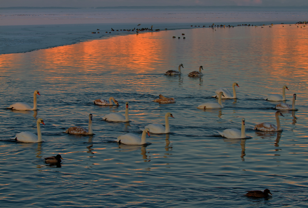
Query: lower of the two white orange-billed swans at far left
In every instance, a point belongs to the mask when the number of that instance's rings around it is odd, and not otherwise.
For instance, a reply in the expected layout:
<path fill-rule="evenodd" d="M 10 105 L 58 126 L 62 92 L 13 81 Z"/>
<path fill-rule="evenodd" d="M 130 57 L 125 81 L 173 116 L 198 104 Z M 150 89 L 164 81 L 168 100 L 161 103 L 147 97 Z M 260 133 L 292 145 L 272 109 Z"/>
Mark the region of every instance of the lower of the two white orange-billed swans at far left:
<path fill-rule="evenodd" d="M 33 134 L 32 132 L 29 131 L 22 131 L 15 136 L 15 140 L 19 142 L 24 142 L 24 143 L 37 143 L 37 142 L 43 142 L 42 139 L 42 133 L 41 133 L 41 127 L 40 124 L 44 124 L 44 121 L 42 118 L 39 118 L 36 121 L 36 126 L 38 130 L 38 135 Z M 45 125 L 45 124 L 44 124 Z"/>

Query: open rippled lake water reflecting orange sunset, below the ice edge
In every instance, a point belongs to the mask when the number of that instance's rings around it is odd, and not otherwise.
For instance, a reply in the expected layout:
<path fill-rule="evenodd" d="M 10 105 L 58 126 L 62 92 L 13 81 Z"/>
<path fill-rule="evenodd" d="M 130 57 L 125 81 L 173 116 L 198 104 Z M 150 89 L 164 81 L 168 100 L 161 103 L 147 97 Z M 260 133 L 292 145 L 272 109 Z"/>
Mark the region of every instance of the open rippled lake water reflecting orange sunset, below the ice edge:
<path fill-rule="evenodd" d="M 186 39 L 183 39 L 184 33 Z M 172 38 L 176 36 L 176 38 Z M 178 39 L 177 37 L 180 37 Z M 307 207 L 307 27 L 196 28 L 116 36 L 74 45 L 0 56 L 0 202 L 1 207 Z M 167 70 L 184 65 L 182 75 Z M 203 66 L 204 76 L 187 74 Z M 238 99 L 225 108 L 196 107 L 219 87 Z M 268 94 L 286 103 L 297 94 L 298 111 L 283 111 L 282 132 L 262 133 L 253 125 L 275 121 Z M 14 102 L 37 111 L 7 110 Z M 152 102 L 159 94 L 176 103 Z M 110 96 L 120 106 L 95 106 Z M 105 122 L 111 112 L 129 123 Z M 112 142 L 125 133 L 164 124 L 171 112 L 170 134 L 151 134 L 145 146 Z M 62 133 L 87 127 L 93 136 Z M 36 133 L 43 143 L 18 143 L 21 131 Z M 251 139 L 226 139 L 217 130 L 241 127 Z M 43 162 L 61 154 L 60 165 Z M 248 198 L 246 190 L 270 189 L 269 198 Z"/>

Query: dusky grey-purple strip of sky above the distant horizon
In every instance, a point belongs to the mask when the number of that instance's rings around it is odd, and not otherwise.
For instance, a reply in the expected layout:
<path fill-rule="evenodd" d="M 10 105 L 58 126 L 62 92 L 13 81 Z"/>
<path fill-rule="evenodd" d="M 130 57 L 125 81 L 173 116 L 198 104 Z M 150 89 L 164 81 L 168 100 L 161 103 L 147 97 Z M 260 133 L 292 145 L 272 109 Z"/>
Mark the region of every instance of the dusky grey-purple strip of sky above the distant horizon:
<path fill-rule="evenodd" d="M 0 0 L 10 6 L 308 6 L 308 0 Z"/>

